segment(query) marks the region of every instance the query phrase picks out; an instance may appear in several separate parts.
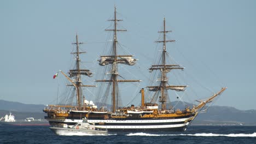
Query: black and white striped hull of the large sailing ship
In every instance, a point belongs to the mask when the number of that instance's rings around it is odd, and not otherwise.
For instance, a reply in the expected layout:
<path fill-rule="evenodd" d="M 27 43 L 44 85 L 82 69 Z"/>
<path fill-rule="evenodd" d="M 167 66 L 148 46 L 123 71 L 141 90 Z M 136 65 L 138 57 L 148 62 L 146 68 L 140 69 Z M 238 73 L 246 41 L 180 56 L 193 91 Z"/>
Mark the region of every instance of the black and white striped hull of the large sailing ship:
<path fill-rule="evenodd" d="M 184 131 L 191 122 L 194 115 L 176 118 L 151 118 L 151 119 L 88 119 L 97 127 L 108 129 L 108 131 Z M 60 127 L 63 124 L 72 127 L 75 123 L 82 122 L 82 119 L 55 119 L 47 118 L 53 127 Z"/>

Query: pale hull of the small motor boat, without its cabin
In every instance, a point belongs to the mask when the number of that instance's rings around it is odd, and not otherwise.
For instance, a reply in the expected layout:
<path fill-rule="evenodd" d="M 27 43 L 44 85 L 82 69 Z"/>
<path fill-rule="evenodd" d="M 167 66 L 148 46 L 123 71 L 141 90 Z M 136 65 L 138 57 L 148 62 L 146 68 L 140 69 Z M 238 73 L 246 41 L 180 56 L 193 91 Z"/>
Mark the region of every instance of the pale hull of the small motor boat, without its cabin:
<path fill-rule="evenodd" d="M 50 128 L 56 135 L 107 135 L 105 130 L 71 129 L 71 128 Z"/>

